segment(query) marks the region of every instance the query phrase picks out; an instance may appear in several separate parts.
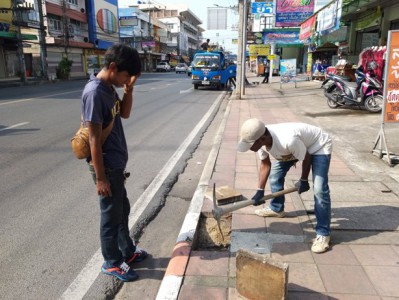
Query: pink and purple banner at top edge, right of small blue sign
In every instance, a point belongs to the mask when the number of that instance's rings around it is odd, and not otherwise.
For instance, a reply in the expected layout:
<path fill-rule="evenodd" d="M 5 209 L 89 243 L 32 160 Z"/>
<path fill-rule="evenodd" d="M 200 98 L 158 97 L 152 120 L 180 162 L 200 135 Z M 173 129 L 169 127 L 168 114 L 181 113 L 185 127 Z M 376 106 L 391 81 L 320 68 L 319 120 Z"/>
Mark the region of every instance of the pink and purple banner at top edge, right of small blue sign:
<path fill-rule="evenodd" d="M 297 27 L 313 14 L 314 0 L 276 0 L 276 27 Z"/>

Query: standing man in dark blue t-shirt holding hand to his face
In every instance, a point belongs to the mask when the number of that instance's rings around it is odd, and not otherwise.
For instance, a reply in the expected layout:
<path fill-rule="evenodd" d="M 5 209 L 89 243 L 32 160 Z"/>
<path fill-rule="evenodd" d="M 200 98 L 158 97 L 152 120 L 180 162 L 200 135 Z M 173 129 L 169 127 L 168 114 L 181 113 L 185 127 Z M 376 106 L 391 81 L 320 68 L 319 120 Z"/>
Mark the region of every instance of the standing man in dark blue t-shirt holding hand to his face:
<path fill-rule="evenodd" d="M 132 269 L 147 252 L 139 249 L 129 235 L 130 203 L 125 189 L 128 151 L 121 119 L 128 118 L 133 88 L 141 74 L 139 54 L 126 45 L 113 45 L 104 56 L 104 65 L 91 75 L 82 94 L 82 116 L 89 129 L 91 155 L 87 159 L 100 204 L 100 241 L 104 257 L 102 272 L 122 281 L 138 278 Z M 120 99 L 115 87 L 124 87 Z M 104 132 L 109 128 L 105 142 Z"/>

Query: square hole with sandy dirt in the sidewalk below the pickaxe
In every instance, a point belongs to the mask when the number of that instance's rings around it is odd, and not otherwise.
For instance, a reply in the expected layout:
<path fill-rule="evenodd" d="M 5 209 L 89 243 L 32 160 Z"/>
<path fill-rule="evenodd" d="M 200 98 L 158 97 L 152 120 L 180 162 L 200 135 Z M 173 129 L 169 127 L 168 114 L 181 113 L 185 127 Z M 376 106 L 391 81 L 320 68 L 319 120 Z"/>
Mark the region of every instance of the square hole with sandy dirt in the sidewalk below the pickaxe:
<path fill-rule="evenodd" d="M 214 218 L 201 217 L 198 224 L 196 248 L 227 248 L 230 245 L 231 214 L 220 219 L 220 228 L 223 236 L 220 234 Z"/>

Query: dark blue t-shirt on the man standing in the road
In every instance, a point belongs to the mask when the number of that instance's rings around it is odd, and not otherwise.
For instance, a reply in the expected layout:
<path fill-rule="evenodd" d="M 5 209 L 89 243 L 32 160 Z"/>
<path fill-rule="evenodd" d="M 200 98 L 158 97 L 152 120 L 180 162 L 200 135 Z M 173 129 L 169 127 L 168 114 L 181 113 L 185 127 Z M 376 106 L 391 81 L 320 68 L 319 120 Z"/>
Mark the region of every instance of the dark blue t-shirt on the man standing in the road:
<path fill-rule="evenodd" d="M 110 169 L 125 169 L 128 152 L 120 117 L 120 99 L 112 87 L 91 75 L 82 94 L 83 121 L 102 124 L 104 129 L 112 122 L 113 114 L 115 121 L 112 131 L 102 147 L 104 166 Z M 90 161 L 91 157 L 88 160 Z"/>

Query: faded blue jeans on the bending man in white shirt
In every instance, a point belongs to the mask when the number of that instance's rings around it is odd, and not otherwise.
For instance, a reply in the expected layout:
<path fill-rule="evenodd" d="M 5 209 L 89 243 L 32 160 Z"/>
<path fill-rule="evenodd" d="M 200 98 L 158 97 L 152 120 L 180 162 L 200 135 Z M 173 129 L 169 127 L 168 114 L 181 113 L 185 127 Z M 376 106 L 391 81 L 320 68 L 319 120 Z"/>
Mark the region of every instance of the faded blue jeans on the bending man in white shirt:
<path fill-rule="evenodd" d="M 315 215 L 317 220 L 316 234 L 330 235 L 331 199 L 328 187 L 328 170 L 331 155 L 312 155 L 312 181 L 315 201 Z M 285 175 L 295 164 L 295 161 L 277 161 L 272 164 L 269 182 L 272 193 L 284 189 Z M 279 196 L 270 200 L 270 209 L 275 212 L 284 210 L 285 197 Z"/>

